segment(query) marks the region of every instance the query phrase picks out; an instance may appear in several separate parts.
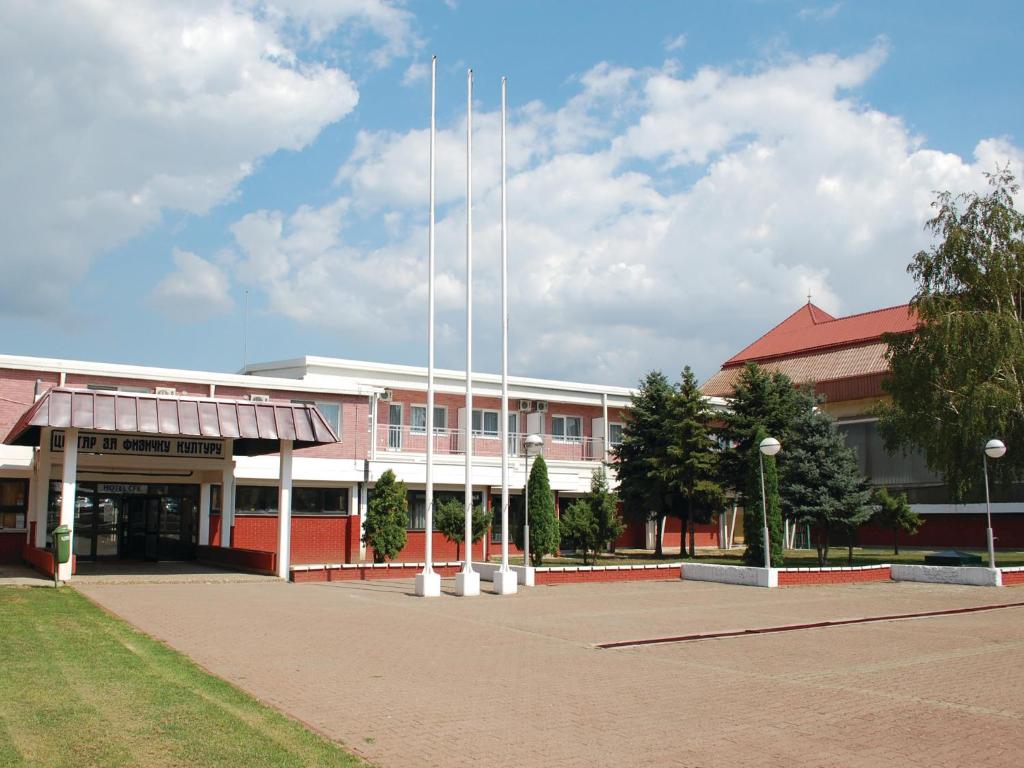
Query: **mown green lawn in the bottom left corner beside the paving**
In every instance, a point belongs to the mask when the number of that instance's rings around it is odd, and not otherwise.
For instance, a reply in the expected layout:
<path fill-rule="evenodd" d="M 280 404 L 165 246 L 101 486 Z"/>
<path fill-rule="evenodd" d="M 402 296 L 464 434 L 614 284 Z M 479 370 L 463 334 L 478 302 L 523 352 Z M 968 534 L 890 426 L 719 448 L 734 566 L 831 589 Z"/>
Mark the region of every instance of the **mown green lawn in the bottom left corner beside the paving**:
<path fill-rule="evenodd" d="M 0 588 L 0 766 L 367 765 L 70 588 Z"/>

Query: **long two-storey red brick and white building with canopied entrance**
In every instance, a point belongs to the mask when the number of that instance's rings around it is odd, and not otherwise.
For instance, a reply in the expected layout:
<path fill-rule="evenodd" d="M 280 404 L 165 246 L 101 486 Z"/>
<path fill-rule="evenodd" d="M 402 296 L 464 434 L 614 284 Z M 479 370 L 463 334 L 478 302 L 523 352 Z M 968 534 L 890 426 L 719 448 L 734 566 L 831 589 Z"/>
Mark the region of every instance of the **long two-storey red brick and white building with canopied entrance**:
<path fill-rule="evenodd" d="M 464 395 L 462 372 L 435 371 L 435 499 L 463 499 Z M 589 490 L 630 396 L 624 387 L 510 377 L 513 530 L 524 435 L 542 435 L 562 509 Z M 422 560 L 425 403 L 426 370 L 408 366 L 302 357 L 218 374 L 0 355 L 0 559 L 45 569 L 67 496 L 77 561 L 201 555 L 286 572 L 356 563 L 372 557 L 361 543 L 368 494 L 393 469 L 410 495 L 399 559 Z M 500 377 L 474 374 L 474 494 L 496 519 L 500 414 Z M 78 441 L 68 452 L 71 429 Z M 500 535 L 495 525 L 474 558 L 496 554 Z M 632 526 L 620 544 L 652 544 L 648 536 Z M 275 558 L 283 545 L 290 557 Z M 456 546 L 435 532 L 433 553 L 455 560 Z"/>

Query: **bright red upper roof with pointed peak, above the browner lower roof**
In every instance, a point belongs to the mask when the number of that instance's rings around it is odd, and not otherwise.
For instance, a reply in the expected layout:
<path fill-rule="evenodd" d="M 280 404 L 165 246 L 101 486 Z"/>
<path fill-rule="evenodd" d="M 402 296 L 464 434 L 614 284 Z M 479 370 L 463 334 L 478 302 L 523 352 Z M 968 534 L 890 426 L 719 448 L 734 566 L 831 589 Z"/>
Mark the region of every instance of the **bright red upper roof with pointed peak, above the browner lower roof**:
<path fill-rule="evenodd" d="M 878 341 L 885 333 L 912 331 L 916 325 L 906 304 L 847 317 L 830 314 L 808 302 L 771 331 L 727 359 L 722 368 L 774 357 Z"/>

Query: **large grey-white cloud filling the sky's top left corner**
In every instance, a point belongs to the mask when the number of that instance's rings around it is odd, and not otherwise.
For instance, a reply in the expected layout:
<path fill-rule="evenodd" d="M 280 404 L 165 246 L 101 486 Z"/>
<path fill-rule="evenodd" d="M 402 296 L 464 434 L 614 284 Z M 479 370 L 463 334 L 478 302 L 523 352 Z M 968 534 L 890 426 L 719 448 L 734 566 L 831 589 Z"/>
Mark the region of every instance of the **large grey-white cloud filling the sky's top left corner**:
<path fill-rule="evenodd" d="M 0 4 L 2 311 L 52 315 L 97 254 L 228 200 L 261 160 L 352 111 L 340 69 L 298 44 L 338 25 L 414 45 L 381 0 Z"/>

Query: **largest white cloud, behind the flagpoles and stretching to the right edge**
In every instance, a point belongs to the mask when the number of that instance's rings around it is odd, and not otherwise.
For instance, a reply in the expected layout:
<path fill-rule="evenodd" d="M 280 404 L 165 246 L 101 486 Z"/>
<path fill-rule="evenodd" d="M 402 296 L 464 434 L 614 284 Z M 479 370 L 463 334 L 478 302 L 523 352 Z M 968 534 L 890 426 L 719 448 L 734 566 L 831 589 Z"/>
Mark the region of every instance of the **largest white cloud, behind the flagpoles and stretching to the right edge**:
<path fill-rule="evenodd" d="M 1006 139 L 973 158 L 926 146 L 853 94 L 883 66 L 786 59 L 690 77 L 599 65 L 559 109 L 510 126 L 512 353 L 518 373 L 632 383 L 647 369 L 709 375 L 811 292 L 833 312 L 905 301 L 933 190 L 981 188 Z M 497 366 L 497 116 L 474 116 L 477 355 Z M 321 209 L 234 227 L 246 280 L 275 311 L 373 338 L 422 361 L 427 137 L 365 132 Z M 438 136 L 442 365 L 462 359 L 463 129 Z M 381 222 L 376 226 L 377 222 Z M 379 232 L 366 245 L 346 232 Z M 378 354 L 378 356 L 381 356 Z"/>

